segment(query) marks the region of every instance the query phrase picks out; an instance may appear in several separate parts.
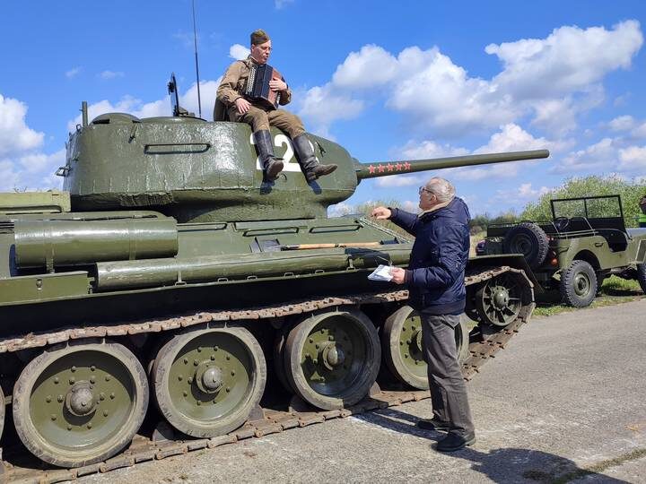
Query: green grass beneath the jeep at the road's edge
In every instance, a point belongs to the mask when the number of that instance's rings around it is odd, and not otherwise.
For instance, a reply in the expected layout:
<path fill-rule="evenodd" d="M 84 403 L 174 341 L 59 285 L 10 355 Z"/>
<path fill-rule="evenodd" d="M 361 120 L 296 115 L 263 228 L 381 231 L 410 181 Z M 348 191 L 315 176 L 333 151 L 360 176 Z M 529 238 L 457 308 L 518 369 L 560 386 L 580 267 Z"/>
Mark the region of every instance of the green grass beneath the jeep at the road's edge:
<path fill-rule="evenodd" d="M 549 298 L 551 297 L 551 300 Z M 601 286 L 601 294 L 592 301 L 589 307 L 614 306 L 624 302 L 634 301 L 644 297 L 642 288 L 637 281 L 626 281 L 616 276 L 611 276 Z M 554 300 L 554 298 L 556 300 Z M 576 307 L 560 304 L 558 293 L 539 298 L 534 315 L 550 316 L 576 311 Z"/>

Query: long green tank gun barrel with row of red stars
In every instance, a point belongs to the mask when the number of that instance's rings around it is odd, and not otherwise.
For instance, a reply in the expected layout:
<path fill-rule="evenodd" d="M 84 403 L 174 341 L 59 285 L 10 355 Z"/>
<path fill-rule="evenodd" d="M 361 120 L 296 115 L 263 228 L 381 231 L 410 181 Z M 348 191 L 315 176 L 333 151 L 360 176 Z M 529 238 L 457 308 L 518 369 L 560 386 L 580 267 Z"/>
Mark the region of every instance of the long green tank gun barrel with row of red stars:
<path fill-rule="evenodd" d="M 512 151 L 508 153 L 487 153 L 466 156 L 451 156 L 447 158 L 435 158 L 428 160 L 399 160 L 399 161 L 378 161 L 373 163 L 356 163 L 357 179 L 388 177 L 388 175 L 399 175 L 402 173 L 415 173 L 430 169 L 448 169 L 455 167 L 470 167 L 474 165 L 486 165 L 489 163 L 502 163 L 506 161 L 535 160 L 547 158 L 549 151 Z"/>

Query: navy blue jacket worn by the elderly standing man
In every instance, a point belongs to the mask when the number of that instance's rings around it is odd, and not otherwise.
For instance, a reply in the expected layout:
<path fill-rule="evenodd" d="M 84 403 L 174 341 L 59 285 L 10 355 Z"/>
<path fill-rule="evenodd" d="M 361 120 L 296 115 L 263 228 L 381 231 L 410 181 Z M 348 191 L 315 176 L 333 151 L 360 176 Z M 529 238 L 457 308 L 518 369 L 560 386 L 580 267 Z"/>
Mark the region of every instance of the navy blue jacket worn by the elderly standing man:
<path fill-rule="evenodd" d="M 406 270 L 410 305 L 432 315 L 462 313 L 471 219 L 467 204 L 456 197 L 446 207 L 421 216 L 390 210 L 390 220 L 415 236 Z"/>

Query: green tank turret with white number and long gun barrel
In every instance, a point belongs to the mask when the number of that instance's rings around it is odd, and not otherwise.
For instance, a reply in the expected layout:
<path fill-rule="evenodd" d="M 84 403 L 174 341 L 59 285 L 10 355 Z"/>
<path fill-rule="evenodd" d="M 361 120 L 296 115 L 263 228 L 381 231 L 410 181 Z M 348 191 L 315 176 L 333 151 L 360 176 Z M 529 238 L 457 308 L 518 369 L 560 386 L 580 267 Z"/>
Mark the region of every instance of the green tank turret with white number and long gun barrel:
<path fill-rule="evenodd" d="M 58 174 L 74 210 L 142 208 L 179 222 L 288 220 L 326 217 L 327 207 L 348 199 L 363 178 L 549 155 L 539 150 L 360 163 L 339 144 L 308 134 L 319 161 L 339 167 L 308 185 L 290 139 L 275 128 L 272 135 L 284 171 L 267 184 L 249 125 L 109 113 L 70 134 Z"/>

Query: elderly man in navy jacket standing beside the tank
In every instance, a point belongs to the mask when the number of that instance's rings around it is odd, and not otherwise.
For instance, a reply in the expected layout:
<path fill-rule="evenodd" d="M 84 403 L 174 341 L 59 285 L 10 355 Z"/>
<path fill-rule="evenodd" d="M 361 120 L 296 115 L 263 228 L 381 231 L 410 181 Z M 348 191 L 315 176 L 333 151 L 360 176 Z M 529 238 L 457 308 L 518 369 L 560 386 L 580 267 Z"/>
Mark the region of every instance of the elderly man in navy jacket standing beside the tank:
<path fill-rule="evenodd" d="M 431 178 L 420 186 L 419 197 L 423 211 L 419 215 L 378 207 L 372 217 L 392 220 L 415 236 L 408 268 L 395 267 L 390 273 L 392 281 L 406 284 L 410 304 L 422 319 L 433 418 L 422 419 L 417 426 L 448 431 L 436 448 L 452 452 L 476 442 L 454 329 L 466 303 L 470 217 L 467 204 L 443 178 Z"/>

